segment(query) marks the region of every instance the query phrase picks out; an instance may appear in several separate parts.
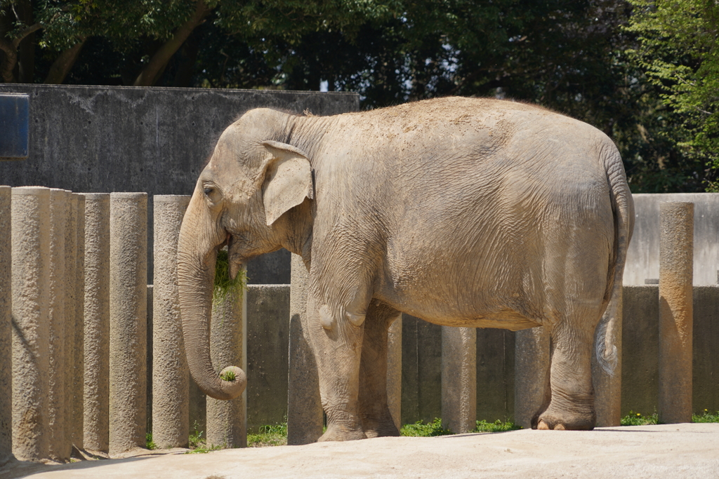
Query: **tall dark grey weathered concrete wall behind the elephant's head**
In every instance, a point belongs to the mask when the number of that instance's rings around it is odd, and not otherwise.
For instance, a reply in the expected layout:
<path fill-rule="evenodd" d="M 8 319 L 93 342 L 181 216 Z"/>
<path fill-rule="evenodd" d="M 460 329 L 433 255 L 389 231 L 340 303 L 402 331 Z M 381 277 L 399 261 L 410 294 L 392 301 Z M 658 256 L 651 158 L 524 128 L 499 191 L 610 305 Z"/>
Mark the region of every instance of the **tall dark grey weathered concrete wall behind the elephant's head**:
<path fill-rule="evenodd" d="M 0 185 L 41 185 L 75 192 L 191 195 L 219 134 L 250 108 L 317 115 L 357 111 L 356 93 L 208 88 L 139 88 L 0 83 L 0 93 L 27 93 L 29 157 L 0 162 Z M 152 218 L 152 203 L 148 215 Z M 149 225 L 152 245 L 152 225 Z M 152 248 L 148 248 L 152 284 Z M 283 253 L 274 256 L 284 258 Z M 258 259 L 273 263 L 273 255 Z M 288 254 L 285 254 L 289 258 Z M 276 262 L 276 261 L 275 261 Z M 262 282 L 285 276 L 250 274 Z"/>

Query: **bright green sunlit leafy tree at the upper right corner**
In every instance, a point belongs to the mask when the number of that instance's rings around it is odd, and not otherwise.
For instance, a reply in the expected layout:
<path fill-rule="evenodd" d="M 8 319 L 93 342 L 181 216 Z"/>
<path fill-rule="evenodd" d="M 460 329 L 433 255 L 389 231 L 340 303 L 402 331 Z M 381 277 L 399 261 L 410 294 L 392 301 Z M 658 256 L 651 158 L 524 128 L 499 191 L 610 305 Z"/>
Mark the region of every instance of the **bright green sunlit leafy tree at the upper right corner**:
<path fill-rule="evenodd" d="M 714 0 L 630 0 L 631 53 L 659 90 L 665 132 L 682 154 L 703 164 L 707 190 L 719 191 L 719 4 Z"/>

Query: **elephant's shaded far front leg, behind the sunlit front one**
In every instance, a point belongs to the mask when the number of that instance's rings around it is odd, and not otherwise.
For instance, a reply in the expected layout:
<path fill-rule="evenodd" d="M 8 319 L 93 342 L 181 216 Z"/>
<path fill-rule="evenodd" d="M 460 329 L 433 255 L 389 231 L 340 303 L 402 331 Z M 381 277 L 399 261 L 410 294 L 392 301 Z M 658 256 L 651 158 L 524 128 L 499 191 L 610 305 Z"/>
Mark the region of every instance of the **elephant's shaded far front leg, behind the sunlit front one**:
<path fill-rule="evenodd" d="M 388 329 L 399 315 L 376 300 L 367 308 L 359 363 L 359 417 L 367 437 L 400 435 L 387 399 Z"/>

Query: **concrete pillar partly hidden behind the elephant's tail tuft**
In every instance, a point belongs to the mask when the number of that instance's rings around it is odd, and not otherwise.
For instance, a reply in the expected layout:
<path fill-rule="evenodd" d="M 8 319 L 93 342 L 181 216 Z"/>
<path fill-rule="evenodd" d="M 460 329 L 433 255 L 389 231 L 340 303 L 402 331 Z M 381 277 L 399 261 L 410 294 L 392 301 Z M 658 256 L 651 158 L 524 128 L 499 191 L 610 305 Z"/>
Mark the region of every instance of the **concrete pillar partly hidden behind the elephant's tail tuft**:
<path fill-rule="evenodd" d="M 617 355 L 617 363 L 611 374 L 597 363 L 597 351 L 592 350 L 592 383 L 597 427 L 619 426 L 622 419 L 622 290 L 623 288 L 619 288 L 618 297 L 612 297 L 605 312 L 605 316 L 610 316 L 604 332 L 605 345 L 610 349 L 616 348 Z M 598 333 L 600 328 L 597 328 Z M 602 351 L 604 350 L 605 348 L 602 348 Z M 611 350 L 608 353 L 611 353 Z"/>

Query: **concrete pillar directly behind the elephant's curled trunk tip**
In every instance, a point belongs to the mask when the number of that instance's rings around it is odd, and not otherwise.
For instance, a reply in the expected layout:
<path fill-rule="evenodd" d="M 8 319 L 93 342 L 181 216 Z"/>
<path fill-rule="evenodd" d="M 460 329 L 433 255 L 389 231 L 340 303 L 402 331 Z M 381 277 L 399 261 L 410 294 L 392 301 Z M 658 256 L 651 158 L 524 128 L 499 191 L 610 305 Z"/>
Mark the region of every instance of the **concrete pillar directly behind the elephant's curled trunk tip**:
<path fill-rule="evenodd" d="M 230 294 L 212 307 L 210 354 L 212 363 L 221 371 L 238 366 L 247 371 L 243 344 L 247 295 Z M 207 397 L 207 444 L 221 447 L 247 447 L 247 389 L 231 401 Z"/>

